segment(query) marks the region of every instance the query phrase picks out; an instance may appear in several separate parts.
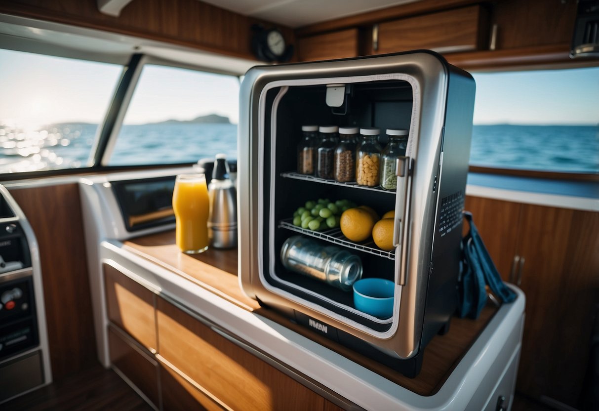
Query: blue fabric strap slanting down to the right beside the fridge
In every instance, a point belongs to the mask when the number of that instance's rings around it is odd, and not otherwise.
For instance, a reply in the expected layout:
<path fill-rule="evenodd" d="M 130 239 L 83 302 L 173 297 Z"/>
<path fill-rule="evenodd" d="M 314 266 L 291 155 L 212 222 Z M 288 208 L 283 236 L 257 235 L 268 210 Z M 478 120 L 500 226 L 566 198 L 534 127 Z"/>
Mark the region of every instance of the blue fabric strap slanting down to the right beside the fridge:
<path fill-rule="evenodd" d="M 476 228 L 476 225 L 474 225 L 472 213 L 464 211 L 463 214 L 468 225 L 470 225 L 470 231 L 468 232 L 470 240 L 468 240 L 469 244 L 467 252 L 470 254 L 470 259 L 476 261 L 474 263 L 476 267 L 473 267 L 472 269 L 480 270 L 482 272 L 486 284 L 497 297 L 500 297 L 504 303 L 511 303 L 516 299 L 516 293 L 509 289 L 503 280 L 501 280 L 497 267 L 495 267 L 495 264 L 485 247 L 485 243 L 483 243 L 479 231 Z"/>

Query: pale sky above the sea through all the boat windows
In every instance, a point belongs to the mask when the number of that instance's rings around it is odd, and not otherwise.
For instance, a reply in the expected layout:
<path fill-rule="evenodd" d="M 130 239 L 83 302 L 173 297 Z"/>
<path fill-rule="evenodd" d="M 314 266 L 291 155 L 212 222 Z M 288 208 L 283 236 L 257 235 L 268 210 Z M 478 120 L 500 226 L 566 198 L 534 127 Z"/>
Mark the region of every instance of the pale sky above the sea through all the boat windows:
<path fill-rule="evenodd" d="M 122 68 L 118 65 L 0 50 L 0 122 L 33 127 L 98 123 Z M 475 124 L 599 123 L 599 68 L 474 73 Z M 217 113 L 238 121 L 236 77 L 147 67 L 125 123 L 186 120 Z"/>

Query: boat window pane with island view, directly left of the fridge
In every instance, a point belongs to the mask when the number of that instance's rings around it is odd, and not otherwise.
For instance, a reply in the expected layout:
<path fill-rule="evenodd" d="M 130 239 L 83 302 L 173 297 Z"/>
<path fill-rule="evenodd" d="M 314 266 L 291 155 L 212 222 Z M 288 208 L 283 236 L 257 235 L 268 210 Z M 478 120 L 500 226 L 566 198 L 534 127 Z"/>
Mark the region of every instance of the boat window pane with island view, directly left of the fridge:
<path fill-rule="evenodd" d="M 237 158 L 238 77 L 145 65 L 108 165 Z"/>

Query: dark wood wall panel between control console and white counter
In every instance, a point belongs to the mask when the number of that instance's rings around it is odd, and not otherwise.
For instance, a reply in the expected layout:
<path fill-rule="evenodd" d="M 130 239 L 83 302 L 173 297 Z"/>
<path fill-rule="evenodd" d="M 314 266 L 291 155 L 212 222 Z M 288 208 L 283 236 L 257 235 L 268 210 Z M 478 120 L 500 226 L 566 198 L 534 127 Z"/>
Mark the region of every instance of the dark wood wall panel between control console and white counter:
<path fill-rule="evenodd" d="M 54 380 L 98 362 L 79 186 L 11 189 L 40 247 Z"/>

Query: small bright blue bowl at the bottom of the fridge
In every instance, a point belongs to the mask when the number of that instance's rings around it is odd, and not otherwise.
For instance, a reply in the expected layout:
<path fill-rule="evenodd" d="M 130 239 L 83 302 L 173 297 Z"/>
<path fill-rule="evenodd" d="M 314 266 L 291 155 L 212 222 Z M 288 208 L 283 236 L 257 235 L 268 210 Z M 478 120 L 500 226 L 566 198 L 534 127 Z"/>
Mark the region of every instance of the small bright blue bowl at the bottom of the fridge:
<path fill-rule="evenodd" d="M 395 283 L 382 278 L 366 278 L 353 284 L 353 305 L 378 318 L 393 315 Z"/>

